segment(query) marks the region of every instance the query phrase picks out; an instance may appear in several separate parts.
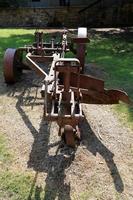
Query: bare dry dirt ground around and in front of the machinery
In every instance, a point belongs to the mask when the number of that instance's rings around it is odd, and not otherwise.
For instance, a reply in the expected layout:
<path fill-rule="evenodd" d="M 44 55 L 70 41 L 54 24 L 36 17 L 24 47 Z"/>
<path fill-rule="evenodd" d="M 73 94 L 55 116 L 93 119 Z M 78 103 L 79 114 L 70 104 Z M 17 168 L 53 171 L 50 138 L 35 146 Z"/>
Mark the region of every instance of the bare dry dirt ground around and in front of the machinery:
<path fill-rule="evenodd" d="M 111 106 L 83 105 L 81 144 L 75 152 L 67 147 L 57 152 L 58 126 L 43 120 L 40 85 L 31 72 L 13 86 L 0 79 L 0 131 L 14 156 L 10 168 L 33 173 L 31 193 L 35 184 L 45 191 L 44 200 L 132 200 L 132 131 Z"/>

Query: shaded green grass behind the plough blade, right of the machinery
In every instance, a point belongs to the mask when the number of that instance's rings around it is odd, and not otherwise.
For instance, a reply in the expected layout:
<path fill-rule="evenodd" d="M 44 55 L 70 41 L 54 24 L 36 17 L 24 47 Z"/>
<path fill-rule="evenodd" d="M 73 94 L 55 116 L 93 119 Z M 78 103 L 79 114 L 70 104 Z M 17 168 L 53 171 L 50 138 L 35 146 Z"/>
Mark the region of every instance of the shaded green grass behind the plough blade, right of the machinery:
<path fill-rule="evenodd" d="M 132 91 L 132 42 L 116 36 L 111 36 L 111 38 L 96 37 L 88 45 L 87 62 L 100 64 L 108 73 L 105 82 L 107 87 L 120 87 Z M 132 93 L 130 95 L 133 97 Z"/>

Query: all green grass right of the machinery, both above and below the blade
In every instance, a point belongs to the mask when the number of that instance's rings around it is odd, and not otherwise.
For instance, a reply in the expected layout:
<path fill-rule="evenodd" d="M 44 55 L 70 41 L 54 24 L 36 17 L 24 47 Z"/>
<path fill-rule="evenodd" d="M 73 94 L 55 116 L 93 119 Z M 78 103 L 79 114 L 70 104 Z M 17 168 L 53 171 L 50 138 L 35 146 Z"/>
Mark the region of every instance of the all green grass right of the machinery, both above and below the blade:
<path fill-rule="evenodd" d="M 106 73 L 106 88 L 126 91 L 133 100 L 133 37 L 126 35 L 95 35 L 87 47 L 86 62 L 96 63 Z M 133 106 L 119 104 L 114 110 L 133 129 Z"/>

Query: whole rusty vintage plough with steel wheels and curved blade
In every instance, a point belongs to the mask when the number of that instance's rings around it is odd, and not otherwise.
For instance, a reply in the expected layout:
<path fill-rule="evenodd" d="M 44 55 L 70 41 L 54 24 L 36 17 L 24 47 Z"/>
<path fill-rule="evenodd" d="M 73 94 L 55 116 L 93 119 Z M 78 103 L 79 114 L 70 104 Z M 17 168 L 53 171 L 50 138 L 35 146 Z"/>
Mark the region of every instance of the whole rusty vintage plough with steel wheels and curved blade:
<path fill-rule="evenodd" d="M 107 90 L 104 81 L 84 74 L 87 29 L 68 42 L 68 31 L 61 33 L 60 42 L 54 38 L 43 41 L 43 32 L 35 32 L 35 42 L 18 49 L 7 49 L 4 57 L 4 78 L 7 84 L 15 83 L 23 70 L 34 70 L 44 78 L 41 95 L 44 98 L 44 119 L 56 121 L 59 136 L 74 147 L 80 139 L 79 122 L 84 119 L 82 103 L 129 103 L 127 94 L 120 90 Z M 69 51 L 76 58 L 65 58 Z M 24 56 L 25 55 L 25 56 Z M 47 64 L 47 72 L 41 64 Z"/>

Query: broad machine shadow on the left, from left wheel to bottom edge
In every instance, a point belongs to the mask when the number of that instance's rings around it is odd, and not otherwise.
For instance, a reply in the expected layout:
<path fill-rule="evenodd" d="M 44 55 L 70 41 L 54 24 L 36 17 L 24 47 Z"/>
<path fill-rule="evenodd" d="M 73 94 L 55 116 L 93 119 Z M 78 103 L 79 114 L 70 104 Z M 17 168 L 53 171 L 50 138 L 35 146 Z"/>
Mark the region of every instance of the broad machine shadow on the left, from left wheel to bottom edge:
<path fill-rule="evenodd" d="M 43 103 L 40 102 L 40 99 L 38 98 L 39 81 L 36 79 L 34 79 L 34 81 L 31 79 L 29 80 L 28 76 L 24 78 L 25 82 L 23 85 L 22 83 L 17 83 L 16 85 L 9 87 L 7 95 L 9 97 L 17 98 L 16 109 L 34 138 L 32 149 L 29 154 L 29 160 L 27 161 L 27 167 L 33 168 L 36 174 L 33 183 L 31 183 L 27 199 L 30 200 L 33 196 L 34 199 L 41 199 L 42 192 L 44 192 L 44 200 L 54 200 L 57 196 L 59 200 L 71 200 L 71 187 L 70 183 L 65 181 L 65 170 L 71 165 L 75 154 L 73 153 L 66 158 L 64 157 L 64 152 L 66 151 L 68 153 L 69 148 L 63 146 L 61 141 L 50 143 L 51 123 L 44 121 L 42 118 L 39 129 L 32 124 L 24 107 L 30 106 L 32 109 L 34 106 L 41 105 L 43 109 Z M 33 87 L 35 93 L 34 96 L 32 93 Z M 57 151 L 54 155 L 50 155 L 49 150 L 53 147 L 56 147 Z M 39 172 L 47 174 L 46 179 L 44 180 L 45 188 L 36 186 Z"/>

